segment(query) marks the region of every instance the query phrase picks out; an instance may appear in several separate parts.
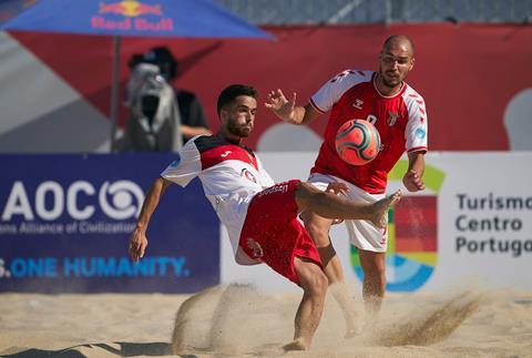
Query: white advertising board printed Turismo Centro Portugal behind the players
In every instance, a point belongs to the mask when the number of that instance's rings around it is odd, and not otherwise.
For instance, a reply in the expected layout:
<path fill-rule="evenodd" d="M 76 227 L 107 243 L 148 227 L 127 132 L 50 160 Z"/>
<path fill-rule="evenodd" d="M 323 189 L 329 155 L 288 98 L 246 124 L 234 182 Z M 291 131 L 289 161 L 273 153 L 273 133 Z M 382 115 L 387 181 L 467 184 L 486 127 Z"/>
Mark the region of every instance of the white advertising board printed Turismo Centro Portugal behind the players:
<path fill-rule="evenodd" d="M 315 153 L 262 153 L 260 158 L 276 181 L 305 180 Z M 531 290 L 532 167 L 525 163 L 532 163 L 532 153 L 429 153 L 426 162 L 423 192 L 402 186 L 407 160 L 389 175 L 389 192 L 401 188 L 405 196 L 389 213 L 387 290 L 441 291 L 457 285 Z M 347 280 L 359 286 L 358 252 L 345 225 L 332 226 L 330 236 Z M 298 289 L 265 265 L 236 266 L 225 242 L 224 283 Z"/>

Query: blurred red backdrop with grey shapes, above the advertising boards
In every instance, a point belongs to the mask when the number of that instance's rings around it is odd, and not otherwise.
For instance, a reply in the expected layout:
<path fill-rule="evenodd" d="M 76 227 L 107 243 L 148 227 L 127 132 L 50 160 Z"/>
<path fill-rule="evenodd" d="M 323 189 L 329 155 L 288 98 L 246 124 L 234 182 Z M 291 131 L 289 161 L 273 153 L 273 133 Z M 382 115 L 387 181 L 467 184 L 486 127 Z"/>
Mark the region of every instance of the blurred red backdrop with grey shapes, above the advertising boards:
<path fill-rule="evenodd" d="M 282 89 L 290 98 L 296 92 L 297 104 L 305 105 L 337 73 L 378 70 L 382 42 L 401 33 L 416 43 L 416 65 L 407 82 L 424 99 L 431 151 L 532 150 L 532 47 L 523 45 L 532 43 L 529 24 L 392 23 L 265 30 L 276 41 L 124 38 L 120 83 L 131 76 L 127 63 L 134 55 L 167 45 L 178 62 L 173 84 L 197 94 L 212 129 L 218 125 L 219 92 L 231 83 L 252 84 L 258 90 L 260 105 L 246 145 L 263 152 L 315 152 L 328 114 L 305 126 L 290 126 L 262 106 L 267 93 Z M 0 32 L 0 82 L 9 83 L 0 88 L 0 108 L 9 113 L 0 125 L 0 153 L 109 151 L 111 48 L 111 37 Z M 451 55 L 454 53 L 459 55 Z M 253 65 L 228 65 L 242 63 L 242 59 Z M 35 79 L 38 85 L 29 88 Z M 42 89 L 50 90 L 47 96 Z M 120 106 L 119 112 L 123 126 L 126 108 Z M 41 135 L 43 130 L 47 136 Z"/>

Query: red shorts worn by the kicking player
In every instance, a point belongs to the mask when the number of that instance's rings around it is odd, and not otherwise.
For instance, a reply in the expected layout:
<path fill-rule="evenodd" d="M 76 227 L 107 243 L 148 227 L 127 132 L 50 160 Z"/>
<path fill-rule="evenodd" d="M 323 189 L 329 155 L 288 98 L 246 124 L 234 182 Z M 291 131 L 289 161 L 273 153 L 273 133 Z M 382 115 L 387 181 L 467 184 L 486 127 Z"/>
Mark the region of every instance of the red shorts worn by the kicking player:
<path fill-rule="evenodd" d="M 278 274 L 299 285 L 294 257 L 313 260 L 323 268 L 318 249 L 297 221 L 295 190 L 299 181 L 279 183 L 257 193 L 247 208 L 239 246 Z"/>

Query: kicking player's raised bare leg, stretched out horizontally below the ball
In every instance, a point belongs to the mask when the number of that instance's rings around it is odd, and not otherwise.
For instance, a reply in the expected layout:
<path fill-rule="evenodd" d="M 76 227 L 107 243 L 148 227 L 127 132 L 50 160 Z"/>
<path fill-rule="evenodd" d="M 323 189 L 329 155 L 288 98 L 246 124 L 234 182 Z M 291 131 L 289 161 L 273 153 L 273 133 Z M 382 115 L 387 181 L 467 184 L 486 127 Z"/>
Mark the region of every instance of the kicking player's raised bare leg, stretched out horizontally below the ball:
<path fill-rule="evenodd" d="M 360 204 L 300 182 L 297 184 L 295 197 L 299 212 L 313 212 L 329 219 L 367 219 L 377 227 L 385 227 L 388 208 L 401 198 L 401 192 L 397 191 L 375 203 Z"/>

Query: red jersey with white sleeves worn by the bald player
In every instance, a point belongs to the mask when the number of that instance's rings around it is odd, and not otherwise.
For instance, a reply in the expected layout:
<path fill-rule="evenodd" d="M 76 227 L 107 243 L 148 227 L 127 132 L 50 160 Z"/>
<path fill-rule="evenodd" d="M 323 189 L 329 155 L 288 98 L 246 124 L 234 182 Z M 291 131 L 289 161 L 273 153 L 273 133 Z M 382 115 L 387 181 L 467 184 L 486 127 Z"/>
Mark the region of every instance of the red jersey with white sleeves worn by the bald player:
<path fill-rule="evenodd" d="M 382 95 L 375 85 L 376 74 L 372 71 L 344 71 L 310 99 L 318 112 L 330 111 L 325 141 L 310 172 L 340 177 L 371 194 L 386 191 L 388 172 L 405 151 L 426 152 L 428 149 L 423 98 L 405 82 L 398 94 Z M 336 133 L 350 120 L 367 120 L 379 131 L 380 152 L 366 165 L 349 165 L 336 152 Z"/>

